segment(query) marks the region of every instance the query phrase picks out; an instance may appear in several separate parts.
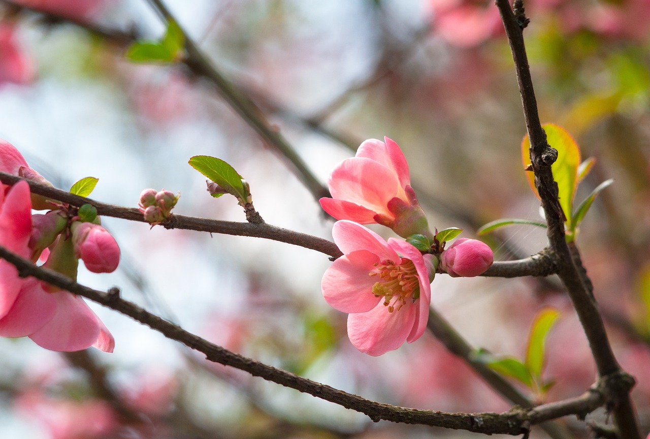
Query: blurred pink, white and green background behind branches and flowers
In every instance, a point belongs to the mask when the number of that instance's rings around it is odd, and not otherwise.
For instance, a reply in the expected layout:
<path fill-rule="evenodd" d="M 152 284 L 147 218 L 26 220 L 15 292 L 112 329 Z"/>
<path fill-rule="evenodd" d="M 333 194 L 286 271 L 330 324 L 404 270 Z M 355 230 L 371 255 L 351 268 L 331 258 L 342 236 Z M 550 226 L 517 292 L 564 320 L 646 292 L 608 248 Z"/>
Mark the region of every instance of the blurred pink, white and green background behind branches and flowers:
<path fill-rule="evenodd" d="M 540 220 L 526 183 L 521 102 L 492 1 L 168 0 L 214 66 L 265 112 L 326 183 L 363 140 L 394 139 L 438 229 L 463 237 L 502 217 Z M 564 126 L 597 160 L 578 202 L 614 178 L 577 243 L 614 351 L 637 379 L 650 431 L 650 1 L 530 0 L 525 29 L 542 122 Z M 142 189 L 180 192 L 175 213 L 244 221 L 187 165 L 213 155 L 250 183 L 266 222 L 331 239 L 331 220 L 292 166 L 183 65 L 133 64 L 129 35 L 164 25 L 144 0 L 0 1 L 0 138 L 57 187 L 99 178 L 92 198 L 136 207 Z M 425 334 L 380 357 L 356 351 L 346 315 L 322 299 L 322 254 L 274 241 L 103 218 L 122 249 L 115 273 L 79 282 L 122 296 L 237 353 L 363 397 L 445 411 L 510 408 Z M 376 229 L 384 233 L 383 229 Z M 497 259 L 546 245 L 543 229 L 482 237 Z M 560 319 L 547 340 L 546 401 L 595 380 L 575 313 L 556 278 L 437 276 L 432 304 L 476 347 L 525 353 L 539 310 Z M 112 354 L 61 354 L 0 339 L 3 438 L 478 438 L 372 423 L 366 416 L 203 358 L 91 304 Z M 515 384 L 516 385 L 516 384 Z M 530 394 L 532 399 L 539 395 Z M 597 412 L 588 421 L 603 423 Z M 585 423 L 563 419 L 575 437 Z M 545 438 L 536 430 L 531 437 Z"/>

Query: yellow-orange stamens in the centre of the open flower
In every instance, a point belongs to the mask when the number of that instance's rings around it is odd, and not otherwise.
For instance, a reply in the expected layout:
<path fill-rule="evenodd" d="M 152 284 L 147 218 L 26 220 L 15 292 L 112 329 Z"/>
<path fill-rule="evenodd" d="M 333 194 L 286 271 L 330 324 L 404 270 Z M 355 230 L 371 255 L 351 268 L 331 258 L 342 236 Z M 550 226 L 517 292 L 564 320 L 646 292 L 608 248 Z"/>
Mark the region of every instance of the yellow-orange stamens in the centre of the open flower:
<path fill-rule="evenodd" d="M 402 258 L 397 264 L 389 260 L 376 262 L 374 267 L 368 274 L 378 276 L 379 280 L 372 286 L 372 293 L 383 297 L 388 312 L 399 311 L 406 300 L 420 297 L 420 282 L 411 259 Z"/>

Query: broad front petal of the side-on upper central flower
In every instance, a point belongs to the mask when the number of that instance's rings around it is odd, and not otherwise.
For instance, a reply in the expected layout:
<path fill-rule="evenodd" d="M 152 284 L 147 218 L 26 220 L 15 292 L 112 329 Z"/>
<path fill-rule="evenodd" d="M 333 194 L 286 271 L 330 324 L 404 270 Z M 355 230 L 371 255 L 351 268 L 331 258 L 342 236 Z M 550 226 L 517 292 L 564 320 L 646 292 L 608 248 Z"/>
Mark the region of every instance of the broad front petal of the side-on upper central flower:
<path fill-rule="evenodd" d="M 389 200 L 404 192 L 391 168 L 360 157 L 345 159 L 334 168 L 329 187 L 332 198 L 389 216 L 386 207 Z"/>

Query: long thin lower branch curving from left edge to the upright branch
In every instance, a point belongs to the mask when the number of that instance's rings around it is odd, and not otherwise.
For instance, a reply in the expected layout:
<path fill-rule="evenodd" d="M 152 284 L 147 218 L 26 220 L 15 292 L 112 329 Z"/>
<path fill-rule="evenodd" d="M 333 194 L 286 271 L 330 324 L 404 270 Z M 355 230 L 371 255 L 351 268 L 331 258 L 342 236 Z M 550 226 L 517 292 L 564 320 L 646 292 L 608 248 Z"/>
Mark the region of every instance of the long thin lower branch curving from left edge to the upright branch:
<path fill-rule="evenodd" d="M 167 338 L 179 341 L 183 345 L 205 354 L 207 360 L 223 364 L 224 366 L 241 369 L 255 377 L 276 382 L 281 386 L 289 387 L 299 392 L 309 393 L 320 399 L 366 414 L 373 421 L 385 419 L 397 423 L 430 425 L 484 434 L 515 435 L 527 432 L 530 425 L 547 421 L 558 415 L 578 414 L 580 416 L 586 416 L 588 412 L 600 406 L 607 396 L 604 393 L 597 392 L 597 390 L 591 390 L 578 399 L 553 403 L 548 408 L 544 405 L 530 410 L 515 408 L 502 414 L 487 412 L 447 413 L 377 403 L 358 395 L 346 393 L 331 386 L 305 379 L 283 369 L 268 366 L 252 358 L 247 358 L 218 345 L 214 345 L 203 338 L 187 332 L 180 326 L 174 325 L 174 323 L 170 323 L 140 308 L 140 306 L 122 299 L 120 297 L 120 291 L 117 288 L 112 288 L 108 292 L 104 292 L 83 286 L 56 271 L 38 267 L 28 259 L 21 258 L 2 246 L 0 246 L 0 258 L 15 265 L 18 269 L 19 276 L 33 276 L 48 284 L 58 286 L 71 293 L 94 300 L 107 308 L 128 315 L 135 321 L 147 325 L 153 330 L 157 330 Z M 596 395 L 593 395 L 593 393 Z M 531 413 L 533 414 L 532 416 L 530 415 Z"/>

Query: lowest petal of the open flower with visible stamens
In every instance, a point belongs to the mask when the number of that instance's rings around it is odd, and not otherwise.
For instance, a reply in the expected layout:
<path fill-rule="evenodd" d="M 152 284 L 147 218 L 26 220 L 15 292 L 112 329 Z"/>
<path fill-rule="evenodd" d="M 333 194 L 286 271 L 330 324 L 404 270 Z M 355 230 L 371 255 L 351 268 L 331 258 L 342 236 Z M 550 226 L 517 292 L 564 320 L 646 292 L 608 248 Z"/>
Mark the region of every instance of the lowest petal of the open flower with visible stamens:
<path fill-rule="evenodd" d="M 388 312 L 382 301 L 369 312 L 348 315 L 348 337 L 359 351 L 378 356 L 400 347 L 414 321 L 415 306 L 411 302 Z"/>

